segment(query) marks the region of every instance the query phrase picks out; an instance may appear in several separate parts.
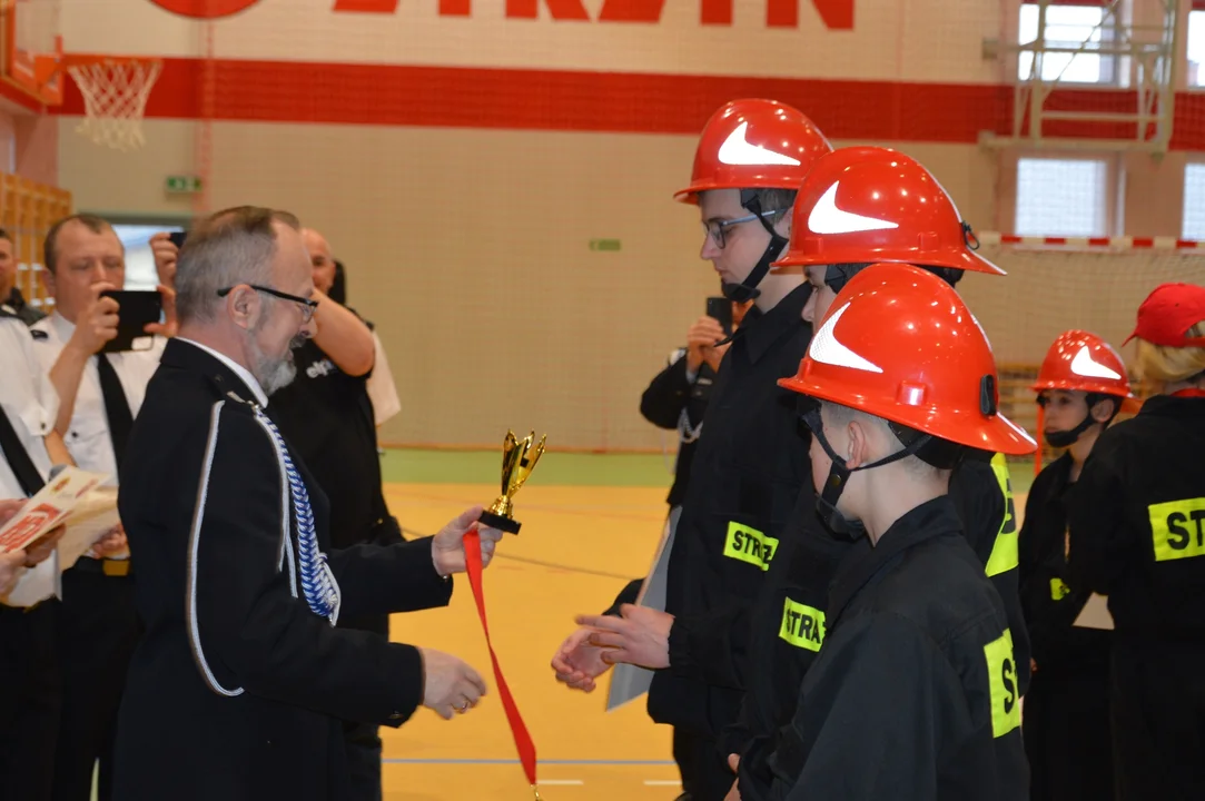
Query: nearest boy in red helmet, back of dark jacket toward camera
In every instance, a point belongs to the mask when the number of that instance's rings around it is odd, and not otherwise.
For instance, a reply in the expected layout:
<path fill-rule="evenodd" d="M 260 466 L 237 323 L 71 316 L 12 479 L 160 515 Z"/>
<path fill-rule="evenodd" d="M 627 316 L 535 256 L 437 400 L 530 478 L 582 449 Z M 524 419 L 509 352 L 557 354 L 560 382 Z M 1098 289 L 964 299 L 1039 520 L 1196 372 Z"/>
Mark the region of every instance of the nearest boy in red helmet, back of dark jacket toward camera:
<path fill-rule="evenodd" d="M 948 283 L 876 264 L 837 293 L 795 377 L 817 511 L 870 543 L 841 563 L 828 630 L 774 758 L 772 799 L 1021 801 L 1012 635 L 948 495 L 968 449 L 1033 453 Z"/>

